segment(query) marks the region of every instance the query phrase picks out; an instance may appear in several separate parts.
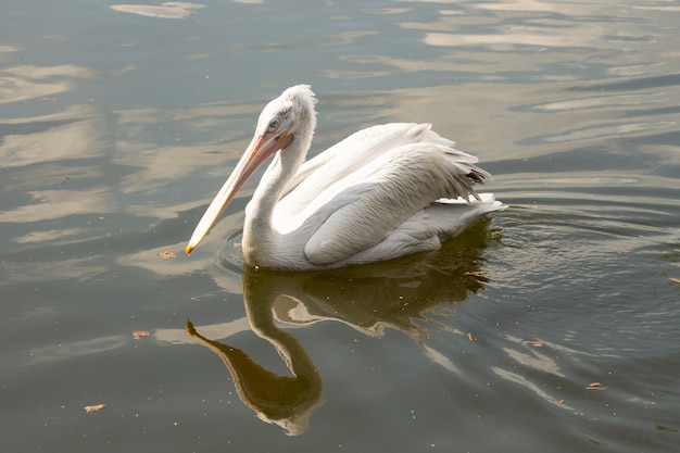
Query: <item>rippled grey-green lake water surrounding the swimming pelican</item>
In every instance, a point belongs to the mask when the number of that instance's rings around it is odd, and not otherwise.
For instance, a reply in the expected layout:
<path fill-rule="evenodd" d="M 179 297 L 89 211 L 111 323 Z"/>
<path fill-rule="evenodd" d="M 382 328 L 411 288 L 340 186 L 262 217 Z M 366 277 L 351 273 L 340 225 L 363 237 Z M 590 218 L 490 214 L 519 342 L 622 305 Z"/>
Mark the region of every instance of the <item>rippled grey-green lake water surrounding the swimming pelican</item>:
<path fill-rule="evenodd" d="M 679 24 L 664 0 L 5 4 L 0 450 L 677 451 Z M 184 255 L 299 83 L 313 153 L 431 122 L 509 207 L 438 253 L 277 274 L 239 264 L 253 180 Z"/>

